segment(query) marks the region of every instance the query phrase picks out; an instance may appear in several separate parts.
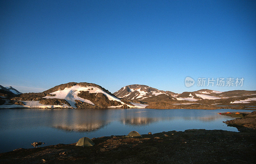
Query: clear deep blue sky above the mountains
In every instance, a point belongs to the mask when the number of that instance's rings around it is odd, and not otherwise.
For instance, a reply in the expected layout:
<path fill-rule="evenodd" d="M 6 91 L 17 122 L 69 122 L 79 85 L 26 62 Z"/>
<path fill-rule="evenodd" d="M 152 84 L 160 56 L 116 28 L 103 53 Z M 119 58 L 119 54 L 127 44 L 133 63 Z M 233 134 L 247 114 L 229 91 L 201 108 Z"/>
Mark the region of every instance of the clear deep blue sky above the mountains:
<path fill-rule="evenodd" d="M 0 1 L 0 84 L 256 90 L 256 1 Z M 187 76 L 243 87 L 185 87 Z"/>

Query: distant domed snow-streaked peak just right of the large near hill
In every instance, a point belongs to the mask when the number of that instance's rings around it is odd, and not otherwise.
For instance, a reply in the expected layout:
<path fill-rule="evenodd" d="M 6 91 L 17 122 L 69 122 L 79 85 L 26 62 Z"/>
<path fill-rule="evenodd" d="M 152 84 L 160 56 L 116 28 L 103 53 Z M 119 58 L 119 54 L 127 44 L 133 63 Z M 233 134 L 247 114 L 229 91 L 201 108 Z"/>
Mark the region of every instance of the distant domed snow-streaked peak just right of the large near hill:
<path fill-rule="evenodd" d="M 170 96 L 175 95 L 171 91 L 158 90 L 156 88 L 149 87 L 147 85 L 127 85 L 114 93 L 115 96 L 119 98 L 125 98 L 127 100 L 142 100 L 152 96 L 158 96 L 161 94 L 168 94 Z"/>

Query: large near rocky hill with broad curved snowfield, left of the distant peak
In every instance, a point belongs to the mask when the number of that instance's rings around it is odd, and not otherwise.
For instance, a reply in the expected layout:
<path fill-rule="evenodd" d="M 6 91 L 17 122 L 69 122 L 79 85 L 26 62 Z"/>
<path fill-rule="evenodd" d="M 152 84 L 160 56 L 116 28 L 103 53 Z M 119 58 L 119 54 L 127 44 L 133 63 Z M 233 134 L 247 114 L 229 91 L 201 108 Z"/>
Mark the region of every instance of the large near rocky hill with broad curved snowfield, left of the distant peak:
<path fill-rule="evenodd" d="M 60 84 L 41 93 L 23 93 L 3 99 L 0 108 L 145 108 L 121 100 L 100 85 L 87 82 Z"/>

